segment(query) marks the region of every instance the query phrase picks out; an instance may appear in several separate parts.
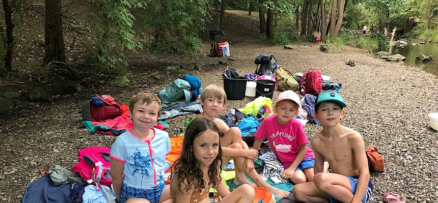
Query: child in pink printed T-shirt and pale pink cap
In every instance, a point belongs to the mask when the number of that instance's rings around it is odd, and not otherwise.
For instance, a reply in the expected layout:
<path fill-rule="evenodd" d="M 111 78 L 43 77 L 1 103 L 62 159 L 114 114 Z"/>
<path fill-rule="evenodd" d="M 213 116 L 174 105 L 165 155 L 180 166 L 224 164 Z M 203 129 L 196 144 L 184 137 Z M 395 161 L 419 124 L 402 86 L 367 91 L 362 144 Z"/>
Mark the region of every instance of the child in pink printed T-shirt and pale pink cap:
<path fill-rule="evenodd" d="M 276 115 L 263 120 L 253 145 L 253 149 L 258 150 L 262 140 L 267 138 L 272 152 L 285 168 L 282 177 L 294 184 L 312 181 L 315 163 L 315 156 L 306 145 L 309 140 L 304 127 L 294 119 L 299 107 L 298 95 L 291 90 L 282 92 L 273 106 Z"/>

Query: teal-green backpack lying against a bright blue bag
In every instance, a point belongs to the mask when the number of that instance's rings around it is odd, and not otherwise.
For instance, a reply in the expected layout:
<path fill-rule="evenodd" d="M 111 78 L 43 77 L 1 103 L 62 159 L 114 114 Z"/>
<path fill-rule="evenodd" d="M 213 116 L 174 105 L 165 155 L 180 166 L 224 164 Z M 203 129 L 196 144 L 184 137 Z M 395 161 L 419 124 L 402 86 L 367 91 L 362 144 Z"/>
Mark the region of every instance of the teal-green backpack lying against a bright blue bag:
<path fill-rule="evenodd" d="M 165 104 L 169 104 L 181 98 L 183 98 L 185 103 L 188 103 L 191 98 L 190 89 L 191 86 L 187 81 L 178 78 L 171 82 L 166 88 L 160 90 L 157 94 L 161 102 Z"/>

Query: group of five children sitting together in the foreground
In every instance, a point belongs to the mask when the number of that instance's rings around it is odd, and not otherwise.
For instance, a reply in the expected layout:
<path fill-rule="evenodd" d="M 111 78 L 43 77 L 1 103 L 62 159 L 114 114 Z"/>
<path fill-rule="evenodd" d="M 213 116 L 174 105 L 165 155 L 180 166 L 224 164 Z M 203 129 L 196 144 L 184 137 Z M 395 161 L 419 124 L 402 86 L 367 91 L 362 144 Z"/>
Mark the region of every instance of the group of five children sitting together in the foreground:
<path fill-rule="evenodd" d="M 169 134 L 155 129 L 161 108 L 153 93 L 140 93 L 129 102 L 133 129 L 119 135 L 111 148 L 113 190 L 120 202 L 210 202 L 209 188 L 220 202 L 253 202 L 254 186 L 269 190 L 277 198 L 291 193 L 303 202 L 366 202 L 372 191 L 362 136 L 340 124 L 346 105 L 338 92 L 323 91 L 315 101 L 315 118 L 323 129 L 316 133 L 310 149 L 304 126 L 294 119 L 300 108 L 298 95 L 282 92 L 273 106 L 275 115 L 263 120 L 255 133 L 253 148 L 242 141 L 237 127 L 229 128 L 215 118 L 227 97 L 219 85 L 208 85 L 200 96 L 203 112 L 187 126 L 181 155 L 172 166 L 170 185 L 164 182 Z M 294 183 L 283 191 L 266 183 L 254 169 L 262 140 L 284 166 L 284 179 Z M 220 172 L 233 159 L 239 185 L 230 192 Z M 326 159 L 332 172 L 324 168 Z M 248 176 L 253 182 L 249 181 Z"/>

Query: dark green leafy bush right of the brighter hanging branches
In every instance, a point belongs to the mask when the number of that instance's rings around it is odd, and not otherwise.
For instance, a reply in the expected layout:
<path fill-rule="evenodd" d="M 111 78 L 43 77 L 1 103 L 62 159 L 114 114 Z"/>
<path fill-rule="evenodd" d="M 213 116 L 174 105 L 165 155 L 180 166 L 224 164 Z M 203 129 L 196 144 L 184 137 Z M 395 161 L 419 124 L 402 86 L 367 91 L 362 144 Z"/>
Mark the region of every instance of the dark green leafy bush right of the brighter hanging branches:
<path fill-rule="evenodd" d="M 196 33 L 205 30 L 209 18 L 206 0 L 155 1 L 136 13 L 149 34 L 154 36 L 156 47 L 165 47 L 176 52 L 185 49 L 200 49 Z M 181 42 L 180 42 L 181 41 Z M 166 48 L 167 47 L 167 48 Z"/>

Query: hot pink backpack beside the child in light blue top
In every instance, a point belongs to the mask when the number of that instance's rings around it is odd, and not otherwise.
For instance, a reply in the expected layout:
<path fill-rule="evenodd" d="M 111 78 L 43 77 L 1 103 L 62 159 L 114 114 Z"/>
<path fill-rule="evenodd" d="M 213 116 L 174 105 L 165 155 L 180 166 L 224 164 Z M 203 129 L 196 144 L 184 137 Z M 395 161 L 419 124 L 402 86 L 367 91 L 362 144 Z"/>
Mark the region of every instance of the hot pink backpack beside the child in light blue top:
<path fill-rule="evenodd" d="M 73 172 L 78 172 L 80 177 L 89 184 L 111 187 L 113 179 L 110 175 L 110 152 L 104 147 L 88 147 L 79 150 L 77 157 L 79 163 L 73 166 Z"/>

